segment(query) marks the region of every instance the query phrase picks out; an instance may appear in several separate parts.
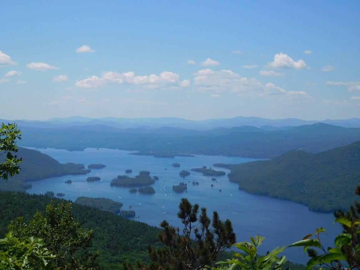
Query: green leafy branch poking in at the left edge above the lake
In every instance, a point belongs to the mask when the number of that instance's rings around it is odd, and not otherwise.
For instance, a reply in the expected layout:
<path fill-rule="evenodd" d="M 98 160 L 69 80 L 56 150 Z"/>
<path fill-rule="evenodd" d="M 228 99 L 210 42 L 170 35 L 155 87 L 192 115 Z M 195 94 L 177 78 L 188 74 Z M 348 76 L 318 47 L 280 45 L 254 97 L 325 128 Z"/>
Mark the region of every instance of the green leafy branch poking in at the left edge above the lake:
<path fill-rule="evenodd" d="M 6 153 L 6 158 L 3 163 L 0 163 L 0 178 L 8 180 L 9 175 L 14 176 L 19 174 L 20 167 L 18 164 L 22 158 L 18 158 L 13 153 L 18 152 L 16 140 L 21 140 L 21 131 L 17 129 L 17 125 L 5 125 L 2 123 L 0 129 L 0 156 Z"/>

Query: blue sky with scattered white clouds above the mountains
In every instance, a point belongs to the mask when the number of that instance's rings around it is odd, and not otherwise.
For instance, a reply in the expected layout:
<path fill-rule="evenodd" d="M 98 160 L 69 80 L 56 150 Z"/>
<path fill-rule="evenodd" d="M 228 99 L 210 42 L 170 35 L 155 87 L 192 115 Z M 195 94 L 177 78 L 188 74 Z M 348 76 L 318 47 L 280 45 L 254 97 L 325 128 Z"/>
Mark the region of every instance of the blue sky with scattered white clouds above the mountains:
<path fill-rule="evenodd" d="M 0 6 L 0 118 L 360 117 L 359 1 Z"/>

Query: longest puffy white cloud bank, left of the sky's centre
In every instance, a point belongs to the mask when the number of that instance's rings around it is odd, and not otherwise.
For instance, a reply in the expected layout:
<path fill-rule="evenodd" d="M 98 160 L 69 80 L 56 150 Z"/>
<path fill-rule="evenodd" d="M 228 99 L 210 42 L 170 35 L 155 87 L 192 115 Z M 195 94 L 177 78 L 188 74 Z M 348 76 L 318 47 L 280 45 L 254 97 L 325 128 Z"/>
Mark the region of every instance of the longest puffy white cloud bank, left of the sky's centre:
<path fill-rule="evenodd" d="M 149 76 L 135 76 L 135 73 L 125 72 L 104 72 L 102 77 L 90 76 L 84 80 L 76 81 L 75 86 L 81 88 L 100 88 L 109 83 L 113 84 L 134 84 L 134 85 L 150 85 L 154 87 L 162 85 L 175 84 L 179 80 L 179 75 L 169 71 L 161 72 L 159 75 L 151 74 Z"/>

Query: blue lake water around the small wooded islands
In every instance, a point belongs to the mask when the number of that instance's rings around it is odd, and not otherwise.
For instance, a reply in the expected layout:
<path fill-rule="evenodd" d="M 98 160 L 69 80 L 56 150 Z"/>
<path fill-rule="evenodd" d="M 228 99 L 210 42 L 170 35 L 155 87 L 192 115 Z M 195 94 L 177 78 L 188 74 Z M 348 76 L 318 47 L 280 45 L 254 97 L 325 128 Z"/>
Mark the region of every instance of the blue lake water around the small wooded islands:
<path fill-rule="evenodd" d="M 35 149 L 35 148 L 30 148 Z M 54 191 L 65 193 L 64 198 L 75 201 L 79 196 L 104 197 L 122 202 L 124 210 L 129 210 L 132 205 L 136 212 L 134 220 L 146 222 L 149 225 L 158 226 L 163 220 L 170 224 L 181 226 L 176 216 L 180 199 L 186 197 L 192 203 L 198 203 L 200 207 L 206 207 L 208 215 L 217 211 L 222 220 L 230 219 L 237 235 L 237 242 L 248 241 L 255 234 L 265 238 L 260 251 L 265 253 L 276 246 L 287 246 L 301 240 L 305 235 L 314 233 L 316 228 L 324 227 L 327 235 L 324 235 L 325 246 L 332 245 L 334 236 L 341 231 L 340 226 L 333 224 L 333 216 L 330 213 L 317 213 L 310 211 L 306 206 L 291 201 L 269 198 L 261 195 L 253 195 L 238 190 L 236 183 L 231 183 L 226 176 L 230 170 L 216 168 L 226 172 L 224 176 L 217 176 L 217 182 L 211 180 L 211 176 L 203 176 L 202 173 L 190 171 L 203 165 L 210 167 L 213 163 L 244 163 L 255 161 L 252 158 L 224 157 L 224 156 L 201 156 L 154 158 L 152 156 L 130 155 L 128 151 L 114 149 L 87 148 L 85 151 L 69 152 L 62 149 L 37 149 L 61 163 L 82 163 L 85 167 L 92 163 L 101 163 L 107 167 L 93 169 L 87 175 L 68 175 L 52 177 L 40 181 L 33 181 L 32 189 L 28 193 L 45 193 Z M 179 168 L 172 167 L 172 163 L 180 163 Z M 167 170 L 165 170 L 167 168 Z M 159 180 L 152 187 L 156 194 L 142 195 L 130 194 L 129 188 L 110 186 L 110 182 L 118 175 L 124 175 L 126 169 L 132 169 L 130 177 L 139 174 L 139 171 L 150 171 L 151 176 L 157 175 Z M 185 179 L 179 176 L 181 170 L 190 171 L 191 175 Z M 100 181 L 87 182 L 88 176 L 100 176 Z M 71 184 L 64 181 L 72 180 Z M 188 193 L 175 193 L 173 185 L 184 181 L 188 184 Z M 190 181 L 190 183 L 188 183 Z M 192 181 L 198 181 L 199 185 L 192 185 Z M 214 184 L 211 187 L 211 184 Z M 219 189 L 222 191 L 219 192 Z M 285 249 L 284 255 L 293 262 L 305 263 L 306 255 L 302 249 Z"/>

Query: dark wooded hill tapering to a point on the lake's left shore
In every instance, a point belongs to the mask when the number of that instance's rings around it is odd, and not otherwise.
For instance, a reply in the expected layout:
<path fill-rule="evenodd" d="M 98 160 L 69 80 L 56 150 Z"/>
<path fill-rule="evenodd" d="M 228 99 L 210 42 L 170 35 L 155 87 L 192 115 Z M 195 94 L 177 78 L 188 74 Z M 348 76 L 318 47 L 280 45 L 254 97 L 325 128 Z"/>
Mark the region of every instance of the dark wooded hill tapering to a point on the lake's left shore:
<path fill-rule="evenodd" d="M 20 164 L 21 174 L 10 177 L 10 181 L 7 181 L 6 185 L 5 181 L 0 179 L 0 190 L 24 191 L 31 188 L 31 185 L 26 183 L 27 181 L 63 175 L 85 175 L 90 172 L 89 169 L 85 170 L 82 164 L 62 164 L 38 150 L 19 147 L 17 155 L 23 159 Z"/>

